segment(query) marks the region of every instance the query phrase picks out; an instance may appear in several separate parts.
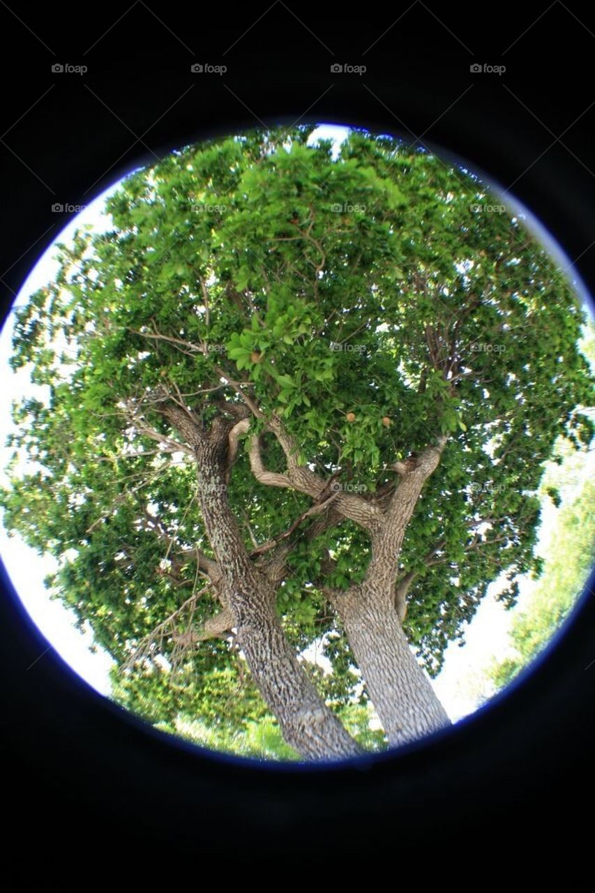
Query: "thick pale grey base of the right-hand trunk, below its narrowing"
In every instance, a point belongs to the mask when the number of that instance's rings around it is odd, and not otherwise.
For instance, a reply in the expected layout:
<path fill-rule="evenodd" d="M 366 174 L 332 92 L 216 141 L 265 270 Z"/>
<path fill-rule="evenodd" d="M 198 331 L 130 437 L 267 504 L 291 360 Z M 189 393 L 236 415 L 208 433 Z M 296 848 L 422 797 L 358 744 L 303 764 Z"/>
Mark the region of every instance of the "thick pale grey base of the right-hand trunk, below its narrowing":
<path fill-rule="evenodd" d="M 448 715 L 401 629 L 394 596 L 357 586 L 332 601 L 390 745 L 448 726 Z"/>

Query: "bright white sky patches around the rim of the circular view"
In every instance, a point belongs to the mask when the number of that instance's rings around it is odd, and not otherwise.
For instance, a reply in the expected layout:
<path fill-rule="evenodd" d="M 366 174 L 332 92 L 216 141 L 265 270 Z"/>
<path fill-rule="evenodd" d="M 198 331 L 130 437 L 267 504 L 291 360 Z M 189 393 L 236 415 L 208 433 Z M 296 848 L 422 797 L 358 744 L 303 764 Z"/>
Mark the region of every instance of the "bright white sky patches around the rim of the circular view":
<path fill-rule="evenodd" d="M 347 128 L 323 125 L 314 131 L 310 141 L 320 137 L 334 138 L 339 145 L 340 140 L 345 138 L 347 133 Z M 62 230 L 30 272 L 15 300 L 15 305 L 26 304 L 30 294 L 46 285 L 54 277 L 55 271 L 57 271 L 57 263 L 53 260 L 56 241 L 69 241 L 73 231 L 80 228 L 83 223 L 91 223 L 96 229 L 105 228 L 106 218 L 102 217 L 101 209 L 106 196 L 117 186 L 118 183 L 113 184 Z M 25 392 L 31 393 L 34 389 L 26 373 L 14 374 L 6 365 L 8 357 L 12 354 L 13 317 L 14 313 L 10 313 L 0 334 L 0 366 L 4 366 L 5 370 L 4 388 L 0 392 L 0 442 L 2 445 L 0 447 L 0 480 L 3 482 L 5 479 L 2 469 L 12 452 L 4 447 L 5 436 L 12 427 L 11 403 L 14 398 L 23 396 Z M 589 475 L 592 477 L 594 474 L 595 457 L 591 454 L 590 462 L 585 464 L 583 476 L 584 478 Z M 556 513 L 557 510 L 553 506 L 546 506 L 540 546 L 542 554 L 545 554 L 544 550 L 551 536 Z M 81 634 L 76 630 L 73 626 L 75 620 L 73 613 L 61 602 L 52 601 L 43 585 L 44 577 L 54 568 L 53 559 L 40 557 L 18 536 L 9 538 L 2 526 L 0 526 L 0 554 L 22 604 L 46 637 L 48 644 L 51 643 L 66 663 L 69 663 L 72 669 L 84 680 L 87 680 L 93 688 L 102 694 L 107 694 L 110 691 L 107 673 L 112 663 L 111 659 L 100 649 L 95 655 L 89 652 L 88 647 L 93 641 L 91 633 Z M 533 584 L 530 580 L 522 583 L 521 597 L 515 611 L 523 608 L 532 587 Z M 445 669 L 440 673 L 438 680 L 433 683 L 452 720 L 459 719 L 475 708 L 474 668 L 485 663 L 486 655 L 494 654 L 503 657 L 506 653 L 507 630 L 513 612 L 506 612 L 502 605 L 496 602 L 494 594 L 498 588 L 498 583 L 490 587 L 488 597 L 485 598 L 467 630 L 465 647 L 460 648 L 454 645 L 448 648 Z M 43 661 L 43 657 L 40 660 Z"/>

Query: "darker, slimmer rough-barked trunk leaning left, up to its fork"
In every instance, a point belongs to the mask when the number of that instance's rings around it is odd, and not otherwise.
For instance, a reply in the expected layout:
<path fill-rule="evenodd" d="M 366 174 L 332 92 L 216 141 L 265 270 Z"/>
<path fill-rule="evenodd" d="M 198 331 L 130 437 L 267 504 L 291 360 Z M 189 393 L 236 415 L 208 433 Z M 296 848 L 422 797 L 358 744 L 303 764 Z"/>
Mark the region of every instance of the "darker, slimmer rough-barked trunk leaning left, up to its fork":
<path fill-rule="evenodd" d="M 203 521 L 222 572 L 224 600 L 235 617 L 236 641 L 283 738 L 306 759 L 361 753 L 289 646 L 275 612 L 274 581 L 252 562 L 240 537 L 225 484 L 230 432 L 236 422 L 218 416 L 206 431 L 179 406 L 164 404 L 161 412 L 195 450 Z"/>

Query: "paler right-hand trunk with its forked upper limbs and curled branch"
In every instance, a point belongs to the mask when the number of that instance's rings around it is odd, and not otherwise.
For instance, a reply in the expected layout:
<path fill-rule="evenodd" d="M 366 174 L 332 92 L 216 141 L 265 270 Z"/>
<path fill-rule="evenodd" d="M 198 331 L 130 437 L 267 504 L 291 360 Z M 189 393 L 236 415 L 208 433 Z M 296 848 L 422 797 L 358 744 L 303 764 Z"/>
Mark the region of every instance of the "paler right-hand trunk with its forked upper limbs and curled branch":
<path fill-rule="evenodd" d="M 251 407 L 259 415 L 257 407 Z M 325 492 L 325 482 L 307 466 L 298 464 L 298 448 L 281 420 L 272 417 L 268 429 L 278 439 L 287 461 L 284 473 L 264 468 L 260 438 L 252 438 L 249 458 L 256 480 L 272 487 L 297 489 L 314 499 Z M 349 645 L 362 672 L 373 705 L 390 744 L 398 745 L 448 726 L 450 721 L 430 680 L 415 660 L 401 628 L 405 613 L 405 587 L 396 589 L 398 556 L 406 526 L 415 511 L 423 484 L 440 463 L 447 438 L 440 437 L 417 458 L 395 463 L 398 488 L 388 505 L 374 505 L 365 498 L 340 493 L 334 509 L 342 517 L 368 530 L 372 558 L 365 580 L 347 591 L 324 586 L 339 614 Z M 400 595 L 400 600 L 396 597 Z"/>

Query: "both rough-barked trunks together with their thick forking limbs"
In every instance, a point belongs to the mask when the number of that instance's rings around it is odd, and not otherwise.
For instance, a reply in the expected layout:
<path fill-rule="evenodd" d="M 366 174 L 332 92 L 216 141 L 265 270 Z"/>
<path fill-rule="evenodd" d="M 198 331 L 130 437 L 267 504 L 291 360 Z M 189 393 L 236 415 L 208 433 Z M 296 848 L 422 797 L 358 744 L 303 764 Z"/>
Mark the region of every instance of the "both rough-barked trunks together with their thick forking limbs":
<path fill-rule="evenodd" d="M 205 530 L 224 580 L 223 604 L 236 619 L 240 647 L 256 685 L 280 722 L 283 737 L 306 758 L 355 755 L 359 752 L 356 742 L 308 680 L 275 612 L 276 592 L 284 577 L 285 545 L 279 544 L 277 552 L 272 553 L 275 570 L 268 574 L 248 555 L 230 510 L 226 487 L 230 442 L 237 444 L 239 432 L 249 430 L 250 414 L 264 418 L 240 388 L 238 391 L 244 405 L 230 401 L 222 405 L 222 412 L 232 414 L 233 421 L 220 414 L 208 431 L 194 413 L 180 405 L 166 402 L 160 411 L 196 455 Z M 376 504 L 340 491 L 328 497 L 329 482 L 298 463 L 297 444 L 281 420 L 273 416 L 265 421 L 283 449 L 287 470 L 279 473 L 265 469 L 261 438 L 253 436 L 248 455 L 256 480 L 306 493 L 314 499 L 314 505 L 332 499 L 332 511 L 339 518 L 356 522 L 370 535 L 372 557 L 362 583 L 347 591 L 323 589 L 343 623 L 390 744 L 403 744 L 447 726 L 448 715 L 401 628 L 406 587 L 396 587 L 406 526 L 423 484 L 440 463 L 447 438 L 438 438 L 416 458 L 395 463 L 392 467 L 400 476 L 399 485 Z"/>

